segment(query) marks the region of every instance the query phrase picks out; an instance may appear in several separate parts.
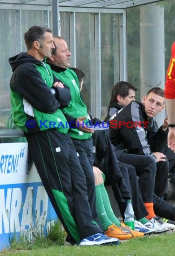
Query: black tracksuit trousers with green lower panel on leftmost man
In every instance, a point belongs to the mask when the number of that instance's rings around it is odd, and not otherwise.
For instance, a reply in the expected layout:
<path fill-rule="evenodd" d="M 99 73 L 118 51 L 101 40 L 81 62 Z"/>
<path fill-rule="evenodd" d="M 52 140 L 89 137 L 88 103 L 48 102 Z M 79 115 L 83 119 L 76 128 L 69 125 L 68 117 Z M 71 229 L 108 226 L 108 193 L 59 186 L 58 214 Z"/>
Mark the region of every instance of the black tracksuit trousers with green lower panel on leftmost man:
<path fill-rule="evenodd" d="M 26 134 L 41 181 L 68 235 L 77 243 L 102 232 L 93 221 L 86 178 L 68 134 L 55 129 Z"/>

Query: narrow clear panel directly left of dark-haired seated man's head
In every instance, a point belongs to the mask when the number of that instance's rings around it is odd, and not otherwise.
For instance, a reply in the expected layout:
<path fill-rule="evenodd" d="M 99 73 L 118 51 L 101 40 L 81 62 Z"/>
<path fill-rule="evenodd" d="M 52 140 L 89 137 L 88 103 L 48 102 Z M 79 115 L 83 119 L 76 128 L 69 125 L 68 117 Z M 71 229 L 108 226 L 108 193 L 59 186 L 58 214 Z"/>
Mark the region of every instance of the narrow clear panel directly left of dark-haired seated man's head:
<path fill-rule="evenodd" d="M 110 93 L 119 81 L 119 14 L 101 14 L 101 119 L 107 115 Z"/>

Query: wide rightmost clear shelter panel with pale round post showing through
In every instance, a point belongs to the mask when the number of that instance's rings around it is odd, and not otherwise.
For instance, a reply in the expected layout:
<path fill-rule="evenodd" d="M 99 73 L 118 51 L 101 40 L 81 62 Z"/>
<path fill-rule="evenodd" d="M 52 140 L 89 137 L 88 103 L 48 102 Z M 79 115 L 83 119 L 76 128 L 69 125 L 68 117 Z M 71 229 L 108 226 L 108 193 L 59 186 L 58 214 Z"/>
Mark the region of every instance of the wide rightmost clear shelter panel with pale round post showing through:
<path fill-rule="evenodd" d="M 164 88 L 171 45 L 175 41 L 174 10 L 174 0 L 127 10 L 127 80 L 138 88 L 138 101 L 151 86 Z M 145 74 L 146 79 L 141 82 Z M 151 83 L 151 79 L 156 82 Z"/>

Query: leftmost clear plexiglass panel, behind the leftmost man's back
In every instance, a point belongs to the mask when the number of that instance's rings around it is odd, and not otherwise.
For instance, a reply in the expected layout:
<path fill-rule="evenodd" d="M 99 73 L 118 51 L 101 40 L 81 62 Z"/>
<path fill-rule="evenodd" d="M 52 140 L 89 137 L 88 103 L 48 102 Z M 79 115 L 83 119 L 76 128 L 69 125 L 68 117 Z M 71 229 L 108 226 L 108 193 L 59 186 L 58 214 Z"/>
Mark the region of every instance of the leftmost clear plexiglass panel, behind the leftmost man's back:
<path fill-rule="evenodd" d="M 20 51 L 20 16 L 18 10 L 0 9 L 0 128 L 5 128 L 10 112 L 8 59 Z"/>

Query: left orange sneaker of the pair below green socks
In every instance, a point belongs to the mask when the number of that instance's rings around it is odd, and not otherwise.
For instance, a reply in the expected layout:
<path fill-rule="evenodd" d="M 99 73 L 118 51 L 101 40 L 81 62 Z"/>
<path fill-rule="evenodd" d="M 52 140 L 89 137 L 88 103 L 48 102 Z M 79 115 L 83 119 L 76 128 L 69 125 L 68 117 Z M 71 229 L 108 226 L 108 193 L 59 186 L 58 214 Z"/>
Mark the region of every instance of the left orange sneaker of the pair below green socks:
<path fill-rule="evenodd" d="M 131 234 L 127 233 L 127 231 L 121 230 L 121 228 L 114 225 L 114 223 L 108 227 L 108 230 L 105 231 L 105 235 L 118 238 L 120 240 L 132 238 Z"/>

